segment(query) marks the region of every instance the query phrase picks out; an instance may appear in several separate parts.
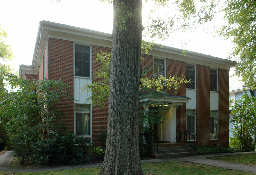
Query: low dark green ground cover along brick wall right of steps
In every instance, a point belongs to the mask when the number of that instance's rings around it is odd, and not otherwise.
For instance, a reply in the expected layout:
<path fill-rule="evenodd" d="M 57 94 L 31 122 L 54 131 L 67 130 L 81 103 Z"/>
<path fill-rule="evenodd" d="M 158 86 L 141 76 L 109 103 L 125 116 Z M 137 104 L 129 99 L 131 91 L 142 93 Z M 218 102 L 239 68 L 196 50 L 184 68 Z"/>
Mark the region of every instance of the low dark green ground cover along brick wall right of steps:
<path fill-rule="evenodd" d="M 196 151 L 198 152 L 198 155 L 237 152 L 236 149 L 224 147 L 222 145 L 220 145 L 219 147 L 209 147 L 207 145 L 200 145 L 197 147 Z"/>

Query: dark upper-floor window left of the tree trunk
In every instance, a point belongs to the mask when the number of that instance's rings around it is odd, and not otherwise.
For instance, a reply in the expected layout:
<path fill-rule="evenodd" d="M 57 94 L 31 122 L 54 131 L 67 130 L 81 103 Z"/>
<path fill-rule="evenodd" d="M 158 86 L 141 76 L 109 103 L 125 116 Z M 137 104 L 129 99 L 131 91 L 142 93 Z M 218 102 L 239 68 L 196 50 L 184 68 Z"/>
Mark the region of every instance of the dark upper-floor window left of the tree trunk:
<path fill-rule="evenodd" d="M 74 75 L 90 77 L 90 46 L 75 44 Z"/>

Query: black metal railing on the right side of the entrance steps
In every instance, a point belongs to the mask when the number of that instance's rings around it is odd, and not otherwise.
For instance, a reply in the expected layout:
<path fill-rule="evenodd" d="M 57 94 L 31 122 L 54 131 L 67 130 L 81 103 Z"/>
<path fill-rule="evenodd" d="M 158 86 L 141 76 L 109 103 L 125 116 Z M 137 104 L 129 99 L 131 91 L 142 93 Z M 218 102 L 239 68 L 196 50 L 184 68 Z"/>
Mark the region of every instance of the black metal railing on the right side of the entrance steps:
<path fill-rule="evenodd" d="M 185 129 L 177 130 L 177 142 L 183 142 L 188 144 L 191 148 L 196 150 L 196 136 L 191 134 Z"/>

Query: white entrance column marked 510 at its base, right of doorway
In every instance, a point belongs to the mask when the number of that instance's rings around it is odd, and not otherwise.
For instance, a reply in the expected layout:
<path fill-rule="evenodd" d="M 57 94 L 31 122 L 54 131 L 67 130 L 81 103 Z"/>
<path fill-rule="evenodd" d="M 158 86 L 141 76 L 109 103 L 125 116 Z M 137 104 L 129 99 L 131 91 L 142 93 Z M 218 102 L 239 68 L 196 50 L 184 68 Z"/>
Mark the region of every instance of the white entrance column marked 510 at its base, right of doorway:
<path fill-rule="evenodd" d="M 176 108 L 177 106 L 172 106 L 172 108 L 170 109 L 170 118 L 169 118 L 169 124 L 170 124 L 170 143 L 176 143 L 176 127 L 177 127 L 177 123 L 176 123 Z"/>

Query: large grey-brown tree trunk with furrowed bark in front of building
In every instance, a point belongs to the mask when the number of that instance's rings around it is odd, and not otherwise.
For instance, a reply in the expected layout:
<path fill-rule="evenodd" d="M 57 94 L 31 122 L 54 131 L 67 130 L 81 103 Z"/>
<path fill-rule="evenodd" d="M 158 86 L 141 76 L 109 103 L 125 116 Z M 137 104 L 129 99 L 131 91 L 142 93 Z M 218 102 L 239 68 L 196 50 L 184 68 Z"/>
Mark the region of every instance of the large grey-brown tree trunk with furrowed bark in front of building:
<path fill-rule="evenodd" d="M 113 5 L 108 131 L 100 175 L 142 175 L 138 146 L 142 1 L 116 0 Z M 125 19 L 127 12 L 132 15 Z"/>

